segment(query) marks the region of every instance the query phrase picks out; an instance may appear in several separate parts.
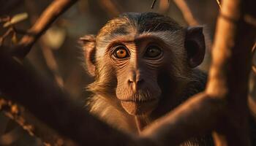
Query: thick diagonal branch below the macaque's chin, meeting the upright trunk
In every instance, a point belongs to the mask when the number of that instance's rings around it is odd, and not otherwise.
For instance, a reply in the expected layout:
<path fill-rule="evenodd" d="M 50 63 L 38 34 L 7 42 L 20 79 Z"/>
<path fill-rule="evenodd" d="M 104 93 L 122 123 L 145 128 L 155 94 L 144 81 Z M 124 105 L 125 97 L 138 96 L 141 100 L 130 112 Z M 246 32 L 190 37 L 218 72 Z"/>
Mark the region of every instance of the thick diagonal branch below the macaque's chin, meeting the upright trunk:
<path fill-rule="evenodd" d="M 178 145 L 191 138 L 209 133 L 223 116 L 225 102 L 199 93 L 177 107 L 163 118 L 159 118 L 143 131 L 158 145 Z"/>

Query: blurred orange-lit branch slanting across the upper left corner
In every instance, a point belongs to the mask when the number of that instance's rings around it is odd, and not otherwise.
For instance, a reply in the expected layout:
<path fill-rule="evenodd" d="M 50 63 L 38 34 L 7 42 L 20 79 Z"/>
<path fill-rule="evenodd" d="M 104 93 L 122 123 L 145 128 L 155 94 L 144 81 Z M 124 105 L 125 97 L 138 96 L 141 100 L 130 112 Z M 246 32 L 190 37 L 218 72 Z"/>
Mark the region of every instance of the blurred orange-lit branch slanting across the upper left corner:
<path fill-rule="evenodd" d="M 63 12 L 65 12 L 72 4 L 78 0 L 55 0 L 48 6 L 42 13 L 37 22 L 29 29 L 29 35 L 24 36 L 18 46 L 12 49 L 12 54 L 18 58 L 24 58 L 26 54 L 31 50 L 32 45 L 37 41 L 39 37 L 50 27 L 50 25 L 59 18 Z"/>

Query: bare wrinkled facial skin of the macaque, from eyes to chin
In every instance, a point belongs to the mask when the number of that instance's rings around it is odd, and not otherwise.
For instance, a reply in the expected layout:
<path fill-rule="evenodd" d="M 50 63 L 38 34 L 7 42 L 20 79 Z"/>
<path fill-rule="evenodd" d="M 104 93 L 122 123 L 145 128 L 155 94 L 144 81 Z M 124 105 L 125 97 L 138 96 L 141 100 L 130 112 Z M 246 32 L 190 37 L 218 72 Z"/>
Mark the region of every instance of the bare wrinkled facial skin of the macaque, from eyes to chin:
<path fill-rule="evenodd" d="M 147 115 L 162 95 L 159 71 L 169 48 L 155 37 L 141 35 L 132 41 L 115 42 L 108 49 L 111 66 L 116 70 L 116 97 L 130 115 Z"/>

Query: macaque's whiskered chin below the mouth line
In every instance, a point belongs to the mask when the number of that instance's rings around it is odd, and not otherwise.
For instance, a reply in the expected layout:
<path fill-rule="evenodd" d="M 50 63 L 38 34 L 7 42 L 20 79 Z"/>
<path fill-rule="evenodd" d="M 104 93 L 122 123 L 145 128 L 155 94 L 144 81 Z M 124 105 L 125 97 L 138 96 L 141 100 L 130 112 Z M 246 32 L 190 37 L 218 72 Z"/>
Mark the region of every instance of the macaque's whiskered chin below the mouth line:
<path fill-rule="evenodd" d="M 121 106 L 129 115 L 149 115 L 157 107 L 158 101 L 121 101 Z"/>

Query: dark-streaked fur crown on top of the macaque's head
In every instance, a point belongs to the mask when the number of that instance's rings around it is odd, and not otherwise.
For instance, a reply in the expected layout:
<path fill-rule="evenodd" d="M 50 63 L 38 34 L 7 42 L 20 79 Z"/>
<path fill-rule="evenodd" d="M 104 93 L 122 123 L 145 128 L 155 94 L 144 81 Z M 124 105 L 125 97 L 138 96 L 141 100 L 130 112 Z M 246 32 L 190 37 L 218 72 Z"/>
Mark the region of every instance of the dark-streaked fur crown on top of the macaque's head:
<path fill-rule="evenodd" d="M 127 12 L 108 21 L 98 36 L 108 34 L 129 34 L 131 31 L 176 31 L 182 27 L 170 17 L 155 12 Z"/>

